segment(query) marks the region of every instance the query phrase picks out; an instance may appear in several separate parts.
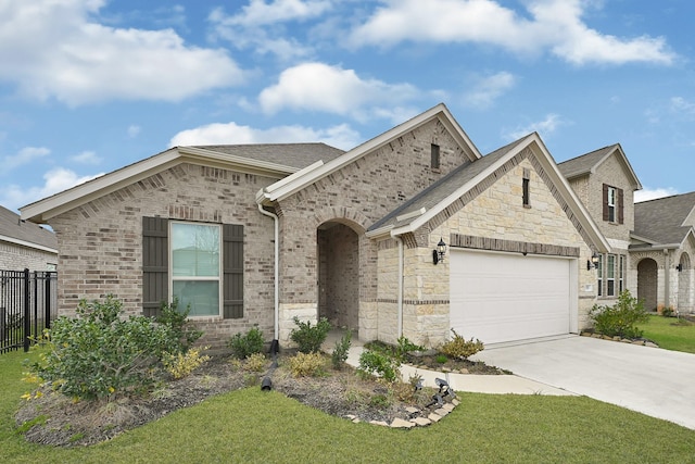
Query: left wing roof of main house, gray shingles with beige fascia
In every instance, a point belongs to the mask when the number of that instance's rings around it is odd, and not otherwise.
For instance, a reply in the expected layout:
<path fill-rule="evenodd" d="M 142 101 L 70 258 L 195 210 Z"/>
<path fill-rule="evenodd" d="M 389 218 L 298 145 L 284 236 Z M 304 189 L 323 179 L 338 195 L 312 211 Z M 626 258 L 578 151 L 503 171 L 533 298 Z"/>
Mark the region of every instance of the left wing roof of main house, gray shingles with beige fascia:
<path fill-rule="evenodd" d="M 52 197 L 22 206 L 22 217 L 45 223 L 94 198 L 102 197 L 185 162 L 231 168 L 281 179 L 320 160 L 333 160 L 342 150 L 326 143 L 265 143 L 174 147 L 113 171 Z"/>

